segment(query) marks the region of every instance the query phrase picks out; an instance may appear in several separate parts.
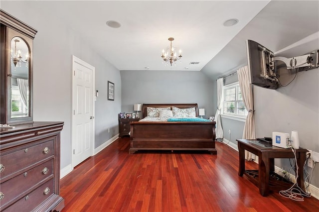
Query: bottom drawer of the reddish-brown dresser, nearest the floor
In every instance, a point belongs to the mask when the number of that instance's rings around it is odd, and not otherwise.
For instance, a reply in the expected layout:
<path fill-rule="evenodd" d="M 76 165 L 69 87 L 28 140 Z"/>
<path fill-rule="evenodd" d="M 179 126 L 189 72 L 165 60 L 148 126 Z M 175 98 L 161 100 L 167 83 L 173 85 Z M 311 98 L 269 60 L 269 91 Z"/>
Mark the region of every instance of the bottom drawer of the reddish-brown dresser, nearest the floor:
<path fill-rule="evenodd" d="M 43 201 L 54 194 L 54 183 L 53 179 L 46 182 L 42 186 L 38 187 L 29 194 L 23 196 L 12 206 L 3 210 L 3 212 L 30 212 Z M 2 210 L 1 210 L 2 211 Z"/>

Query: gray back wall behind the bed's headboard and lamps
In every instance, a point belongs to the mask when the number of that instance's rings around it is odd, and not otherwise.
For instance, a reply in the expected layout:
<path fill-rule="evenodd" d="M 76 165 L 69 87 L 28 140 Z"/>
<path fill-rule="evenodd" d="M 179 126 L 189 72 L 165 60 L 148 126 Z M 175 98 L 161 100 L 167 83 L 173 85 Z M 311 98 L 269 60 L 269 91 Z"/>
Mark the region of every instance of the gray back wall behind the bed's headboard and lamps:
<path fill-rule="evenodd" d="M 134 104 L 197 103 L 205 117 L 215 115 L 213 84 L 196 71 L 120 71 L 122 111 L 132 112 Z"/>

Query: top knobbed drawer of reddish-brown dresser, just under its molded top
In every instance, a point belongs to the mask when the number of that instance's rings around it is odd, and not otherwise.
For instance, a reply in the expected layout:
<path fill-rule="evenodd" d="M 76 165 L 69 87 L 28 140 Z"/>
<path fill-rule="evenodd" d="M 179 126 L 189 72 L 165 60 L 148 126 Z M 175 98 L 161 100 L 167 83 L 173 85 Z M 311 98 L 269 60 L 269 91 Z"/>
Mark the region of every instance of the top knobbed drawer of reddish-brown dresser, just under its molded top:
<path fill-rule="evenodd" d="M 26 169 L 35 163 L 54 155 L 53 143 L 55 137 L 43 139 L 43 143 L 37 145 L 25 145 L 24 148 L 16 148 L 12 151 L 1 152 L 0 171 L 1 181 L 18 171 Z"/>

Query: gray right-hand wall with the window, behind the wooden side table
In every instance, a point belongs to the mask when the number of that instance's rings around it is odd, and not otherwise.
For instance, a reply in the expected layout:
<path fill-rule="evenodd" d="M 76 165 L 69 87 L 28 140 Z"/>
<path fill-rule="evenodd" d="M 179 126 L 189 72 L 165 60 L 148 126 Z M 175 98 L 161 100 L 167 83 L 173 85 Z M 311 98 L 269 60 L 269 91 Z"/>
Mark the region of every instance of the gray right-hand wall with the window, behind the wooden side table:
<path fill-rule="evenodd" d="M 297 42 L 298 43 L 298 42 Z M 293 44 L 288 50 L 276 56 L 300 56 L 319 48 L 319 39 L 303 40 L 301 45 Z M 286 68 L 280 69 L 283 85 L 294 78 Z M 236 75 L 235 75 L 236 76 Z M 216 90 L 216 82 L 214 81 Z M 300 146 L 319 152 L 319 69 L 299 72 L 296 79 L 287 87 L 277 90 L 253 87 L 256 137 L 272 136 L 273 131 L 291 133 L 297 130 Z M 214 98 L 214 105 L 217 103 Z M 240 121 L 222 118 L 224 137 L 237 145 L 236 139 L 242 137 L 243 125 Z M 241 132 L 241 133 L 240 133 Z M 236 134 L 236 135 L 235 135 Z M 236 137 L 237 136 L 237 137 Z M 276 159 L 275 165 L 289 170 L 288 159 Z M 310 168 L 306 168 L 309 172 Z M 316 166 L 311 181 L 319 187 L 319 167 Z"/>

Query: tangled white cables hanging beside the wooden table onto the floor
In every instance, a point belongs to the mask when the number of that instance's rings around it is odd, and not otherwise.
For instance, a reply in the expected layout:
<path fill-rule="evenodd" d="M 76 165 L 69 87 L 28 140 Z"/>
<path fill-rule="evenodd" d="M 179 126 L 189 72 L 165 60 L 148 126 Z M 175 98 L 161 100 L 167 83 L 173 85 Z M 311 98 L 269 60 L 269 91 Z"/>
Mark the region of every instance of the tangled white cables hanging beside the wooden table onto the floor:
<path fill-rule="evenodd" d="M 311 197 L 311 194 L 308 194 L 306 192 L 304 192 L 297 183 L 297 179 L 298 179 L 298 164 L 297 164 L 297 156 L 296 156 L 296 149 L 294 149 L 293 147 L 290 147 L 291 150 L 293 151 L 294 155 L 295 155 L 295 161 L 296 161 L 296 180 L 294 185 L 292 185 L 292 187 L 290 187 L 287 190 L 282 190 L 279 192 L 280 196 L 284 197 L 284 198 L 288 198 L 294 201 L 298 201 L 298 202 L 302 202 L 304 201 L 304 197 Z M 294 188 L 295 187 L 295 188 Z"/>

